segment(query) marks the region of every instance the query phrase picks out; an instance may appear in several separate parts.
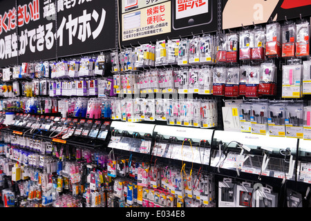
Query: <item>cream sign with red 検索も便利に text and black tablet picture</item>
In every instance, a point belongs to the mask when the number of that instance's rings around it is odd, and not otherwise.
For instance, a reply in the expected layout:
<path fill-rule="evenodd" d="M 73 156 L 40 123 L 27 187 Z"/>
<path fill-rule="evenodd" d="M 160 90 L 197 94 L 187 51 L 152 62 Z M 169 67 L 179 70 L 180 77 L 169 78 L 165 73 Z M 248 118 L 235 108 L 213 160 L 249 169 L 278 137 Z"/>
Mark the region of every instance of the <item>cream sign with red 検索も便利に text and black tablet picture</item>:
<path fill-rule="evenodd" d="M 218 27 L 218 0 L 122 0 L 121 44 L 174 39 Z"/>

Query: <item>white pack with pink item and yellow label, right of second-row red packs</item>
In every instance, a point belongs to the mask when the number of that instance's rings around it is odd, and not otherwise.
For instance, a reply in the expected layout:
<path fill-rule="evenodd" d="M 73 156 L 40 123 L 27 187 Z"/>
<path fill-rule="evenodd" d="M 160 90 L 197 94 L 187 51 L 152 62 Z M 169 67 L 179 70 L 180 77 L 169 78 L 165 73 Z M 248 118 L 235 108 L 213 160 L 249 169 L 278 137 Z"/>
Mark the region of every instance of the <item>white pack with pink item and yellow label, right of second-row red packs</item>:
<path fill-rule="evenodd" d="M 302 65 L 289 64 L 283 65 L 282 75 L 282 97 L 301 97 L 301 78 L 302 78 Z"/>

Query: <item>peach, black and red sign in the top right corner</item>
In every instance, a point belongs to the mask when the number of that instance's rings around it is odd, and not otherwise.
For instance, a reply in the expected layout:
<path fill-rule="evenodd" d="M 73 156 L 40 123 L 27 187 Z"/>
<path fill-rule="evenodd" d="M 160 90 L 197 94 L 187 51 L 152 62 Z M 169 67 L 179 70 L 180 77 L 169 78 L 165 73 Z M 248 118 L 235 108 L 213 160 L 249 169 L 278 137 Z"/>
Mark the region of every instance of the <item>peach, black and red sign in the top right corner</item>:
<path fill-rule="evenodd" d="M 223 0 L 223 29 L 307 16 L 310 0 Z"/>

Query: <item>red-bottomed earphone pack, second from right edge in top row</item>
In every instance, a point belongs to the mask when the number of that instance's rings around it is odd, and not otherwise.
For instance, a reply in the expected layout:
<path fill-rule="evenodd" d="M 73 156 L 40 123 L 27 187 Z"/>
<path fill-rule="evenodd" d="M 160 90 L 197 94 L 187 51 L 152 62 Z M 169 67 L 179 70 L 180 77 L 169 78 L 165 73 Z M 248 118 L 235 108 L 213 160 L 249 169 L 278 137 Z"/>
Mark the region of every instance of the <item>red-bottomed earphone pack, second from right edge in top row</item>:
<path fill-rule="evenodd" d="M 295 56 L 296 24 L 287 21 L 282 26 L 282 57 Z"/>

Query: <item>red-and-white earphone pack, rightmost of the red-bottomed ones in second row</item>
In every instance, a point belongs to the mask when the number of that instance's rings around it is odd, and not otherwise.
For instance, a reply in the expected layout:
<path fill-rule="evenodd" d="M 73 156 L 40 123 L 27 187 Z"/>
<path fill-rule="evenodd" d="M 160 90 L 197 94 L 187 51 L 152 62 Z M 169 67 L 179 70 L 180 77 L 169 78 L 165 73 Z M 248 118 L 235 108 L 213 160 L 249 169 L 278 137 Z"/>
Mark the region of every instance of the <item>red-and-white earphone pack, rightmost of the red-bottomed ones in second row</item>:
<path fill-rule="evenodd" d="M 273 61 L 261 64 L 258 93 L 259 95 L 276 95 L 276 66 Z"/>

